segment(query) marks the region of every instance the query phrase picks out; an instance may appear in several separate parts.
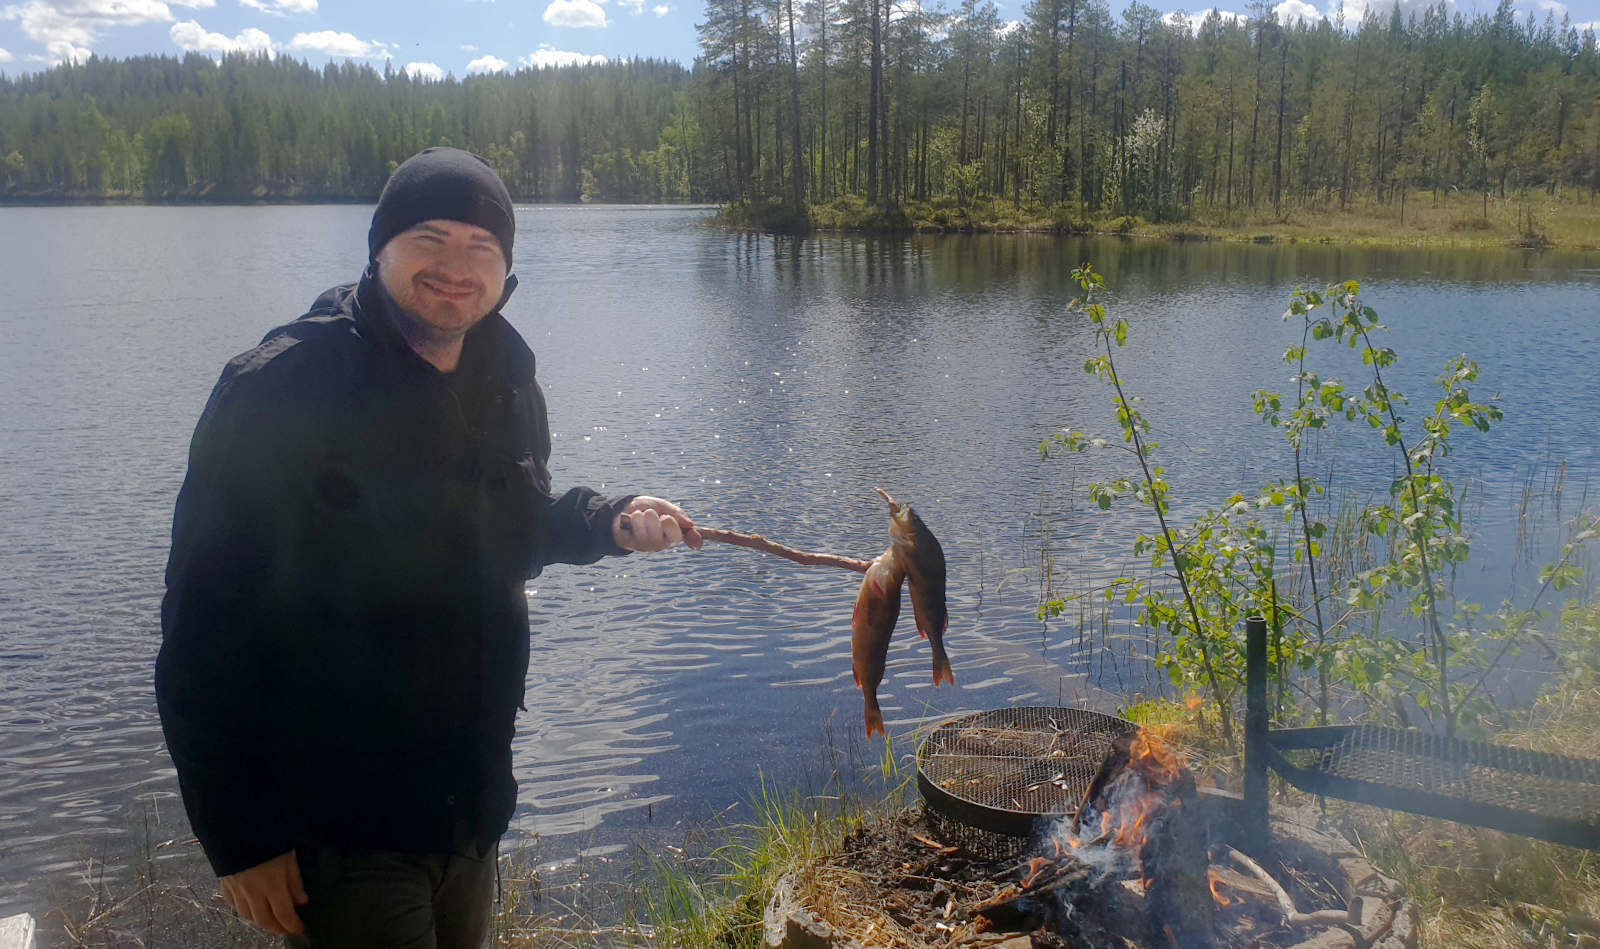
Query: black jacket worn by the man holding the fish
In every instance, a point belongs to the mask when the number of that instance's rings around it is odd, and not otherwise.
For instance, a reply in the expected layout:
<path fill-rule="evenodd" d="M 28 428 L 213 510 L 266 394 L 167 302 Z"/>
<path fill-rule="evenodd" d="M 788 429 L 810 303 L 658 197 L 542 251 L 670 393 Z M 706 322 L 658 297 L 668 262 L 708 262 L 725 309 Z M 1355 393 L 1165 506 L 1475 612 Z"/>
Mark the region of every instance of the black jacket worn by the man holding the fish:
<path fill-rule="evenodd" d="M 523 581 L 621 554 L 550 493 L 534 360 L 488 315 L 445 374 L 371 274 L 234 358 L 173 517 L 155 693 L 218 875 L 315 839 L 448 851 L 510 819 Z"/>

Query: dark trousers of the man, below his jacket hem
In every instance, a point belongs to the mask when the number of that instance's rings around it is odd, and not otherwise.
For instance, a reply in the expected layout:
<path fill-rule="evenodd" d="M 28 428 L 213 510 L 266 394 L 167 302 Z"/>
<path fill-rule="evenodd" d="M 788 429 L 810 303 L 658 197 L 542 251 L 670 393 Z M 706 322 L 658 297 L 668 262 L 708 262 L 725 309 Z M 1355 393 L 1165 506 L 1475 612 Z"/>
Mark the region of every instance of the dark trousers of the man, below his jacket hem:
<path fill-rule="evenodd" d="M 498 848 L 392 853 L 304 845 L 306 936 L 290 949 L 480 949 L 494 906 Z"/>

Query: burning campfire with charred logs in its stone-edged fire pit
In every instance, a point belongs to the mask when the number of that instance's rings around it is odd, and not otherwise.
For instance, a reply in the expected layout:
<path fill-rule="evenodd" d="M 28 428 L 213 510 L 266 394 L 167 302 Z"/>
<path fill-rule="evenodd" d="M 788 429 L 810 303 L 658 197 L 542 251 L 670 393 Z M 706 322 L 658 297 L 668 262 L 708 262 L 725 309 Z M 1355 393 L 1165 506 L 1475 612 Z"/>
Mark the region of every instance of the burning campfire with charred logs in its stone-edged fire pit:
<path fill-rule="evenodd" d="M 787 906 L 774 904 L 768 944 L 1414 946 L 1410 904 L 1341 840 L 1275 821 L 1272 855 L 1258 861 L 1234 848 L 1227 799 L 1197 787 L 1155 733 L 1110 739 L 1070 810 L 1040 821 L 1021 853 L 986 853 L 978 840 L 992 834 L 974 837 L 930 813 L 864 829 L 838 859 L 795 880 Z"/>

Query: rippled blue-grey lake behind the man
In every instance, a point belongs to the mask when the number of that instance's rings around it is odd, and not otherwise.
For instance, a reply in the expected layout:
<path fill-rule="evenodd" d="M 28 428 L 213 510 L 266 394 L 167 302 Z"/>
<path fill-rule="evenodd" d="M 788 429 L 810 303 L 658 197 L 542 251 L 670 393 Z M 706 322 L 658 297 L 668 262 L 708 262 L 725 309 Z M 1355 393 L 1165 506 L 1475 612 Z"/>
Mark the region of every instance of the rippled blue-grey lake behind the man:
<path fill-rule="evenodd" d="M 46 883 L 88 859 L 126 859 L 150 819 L 182 847 L 150 675 L 187 442 L 229 357 L 358 275 L 370 213 L 0 208 L 0 915 L 43 912 Z M 1491 435 L 1458 435 L 1482 514 L 1461 581 L 1475 599 L 1493 605 L 1531 571 L 1514 523 L 1525 485 L 1562 479 L 1565 514 L 1592 504 L 1594 254 L 787 240 L 706 219 L 518 210 L 507 317 L 539 357 L 557 487 L 654 493 L 710 527 L 854 557 L 886 546 L 874 485 L 915 504 L 950 562 L 958 687 L 931 687 L 902 621 L 880 691 L 896 755 L 947 714 L 1150 687 L 1146 663 L 1034 618 L 1046 552 L 1056 589 L 1086 587 L 1128 567 L 1133 531 L 1150 527 L 1086 503 L 1115 458 L 1038 458 L 1062 426 L 1115 427 L 1080 368 L 1090 333 L 1066 310 L 1080 261 L 1131 323 L 1118 366 L 1157 426 L 1179 514 L 1283 477 L 1282 437 L 1250 392 L 1290 387 L 1291 290 L 1350 277 L 1394 330 L 1390 384 L 1414 413 L 1458 352 L 1506 411 Z M 1341 464 L 1362 464 L 1354 435 Z M 538 835 L 552 861 L 603 858 L 747 816 L 763 779 L 848 783 L 830 762 L 883 755 L 862 746 L 850 675 L 858 583 L 726 546 L 531 583 L 514 835 Z"/>

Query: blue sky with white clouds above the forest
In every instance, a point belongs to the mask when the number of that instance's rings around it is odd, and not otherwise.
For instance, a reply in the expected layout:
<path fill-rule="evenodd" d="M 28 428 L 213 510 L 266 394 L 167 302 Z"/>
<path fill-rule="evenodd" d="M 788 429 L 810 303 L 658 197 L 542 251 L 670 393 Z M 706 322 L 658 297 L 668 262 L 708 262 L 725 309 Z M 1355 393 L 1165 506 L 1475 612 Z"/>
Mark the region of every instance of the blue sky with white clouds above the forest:
<path fill-rule="evenodd" d="M 1421 10 L 1435 0 L 1402 0 Z M 1450 0 L 1472 16 L 1494 0 Z M 923 0 L 938 8 L 939 0 Z M 1317 6 L 1315 3 L 1323 3 Z M 1282 0 L 1282 19 L 1334 16 L 1355 22 L 1368 3 L 1394 0 Z M 947 8 L 954 0 L 946 0 Z M 997 0 L 1002 21 L 1021 19 L 1026 0 Z M 1120 13 L 1118 0 L 1112 10 Z M 1157 3 L 1198 24 L 1205 10 Z M 1515 0 L 1518 19 L 1570 14 L 1600 32 L 1600 0 Z M 1245 0 L 1224 2 L 1242 13 Z M 314 66 L 355 59 L 419 78 L 462 78 L 523 66 L 565 66 L 648 56 L 688 66 L 704 0 L 0 0 L 0 72 L 18 75 L 67 59 L 266 50 Z"/>

